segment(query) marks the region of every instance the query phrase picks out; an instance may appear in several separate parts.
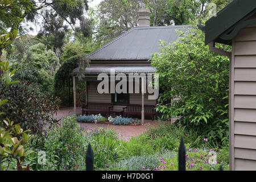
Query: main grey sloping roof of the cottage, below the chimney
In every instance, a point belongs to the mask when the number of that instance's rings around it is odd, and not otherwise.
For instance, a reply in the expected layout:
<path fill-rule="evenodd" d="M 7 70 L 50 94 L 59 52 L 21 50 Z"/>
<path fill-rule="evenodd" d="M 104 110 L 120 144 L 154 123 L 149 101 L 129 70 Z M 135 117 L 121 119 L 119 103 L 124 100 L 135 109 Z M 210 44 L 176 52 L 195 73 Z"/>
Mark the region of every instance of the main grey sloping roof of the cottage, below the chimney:
<path fill-rule="evenodd" d="M 134 27 L 85 57 L 87 60 L 149 60 L 159 52 L 159 40 L 172 43 L 185 26 Z"/>

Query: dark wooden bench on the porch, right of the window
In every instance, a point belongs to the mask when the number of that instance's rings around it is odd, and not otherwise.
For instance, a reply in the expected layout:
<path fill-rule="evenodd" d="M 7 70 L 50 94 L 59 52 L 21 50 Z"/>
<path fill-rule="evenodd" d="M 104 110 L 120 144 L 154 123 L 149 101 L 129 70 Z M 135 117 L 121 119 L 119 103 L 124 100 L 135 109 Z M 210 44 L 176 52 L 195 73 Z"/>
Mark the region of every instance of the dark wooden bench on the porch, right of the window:
<path fill-rule="evenodd" d="M 139 104 L 129 104 L 123 108 L 123 117 L 127 114 L 141 115 L 142 106 Z M 144 105 L 144 115 L 150 115 L 152 120 L 155 115 L 155 105 Z"/>

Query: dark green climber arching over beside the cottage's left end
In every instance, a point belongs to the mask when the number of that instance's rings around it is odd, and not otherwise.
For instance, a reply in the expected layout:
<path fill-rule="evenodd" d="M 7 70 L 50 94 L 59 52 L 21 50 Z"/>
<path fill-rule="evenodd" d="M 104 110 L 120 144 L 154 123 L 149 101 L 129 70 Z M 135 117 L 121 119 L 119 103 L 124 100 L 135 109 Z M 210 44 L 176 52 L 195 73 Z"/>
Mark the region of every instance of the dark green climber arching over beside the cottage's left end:
<path fill-rule="evenodd" d="M 56 72 L 54 80 L 55 96 L 61 97 L 62 103 L 65 106 L 71 106 L 73 104 L 73 79 L 69 74 L 77 67 L 80 67 L 82 70 L 88 65 L 86 60 L 82 60 L 83 56 L 84 55 L 70 57 Z M 83 84 L 84 81 L 81 83 L 82 88 L 84 88 Z"/>

